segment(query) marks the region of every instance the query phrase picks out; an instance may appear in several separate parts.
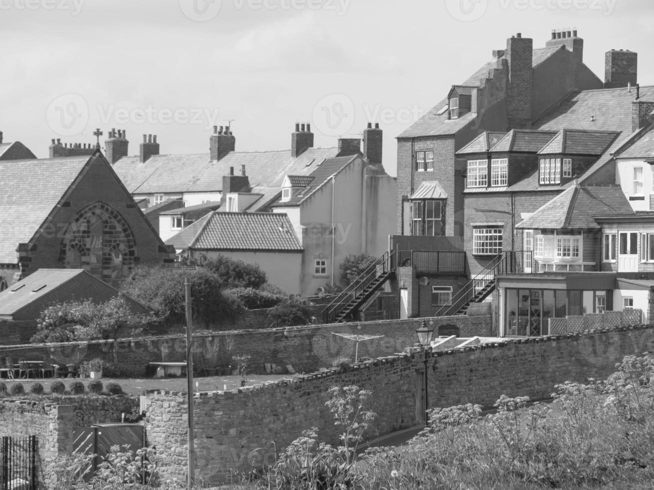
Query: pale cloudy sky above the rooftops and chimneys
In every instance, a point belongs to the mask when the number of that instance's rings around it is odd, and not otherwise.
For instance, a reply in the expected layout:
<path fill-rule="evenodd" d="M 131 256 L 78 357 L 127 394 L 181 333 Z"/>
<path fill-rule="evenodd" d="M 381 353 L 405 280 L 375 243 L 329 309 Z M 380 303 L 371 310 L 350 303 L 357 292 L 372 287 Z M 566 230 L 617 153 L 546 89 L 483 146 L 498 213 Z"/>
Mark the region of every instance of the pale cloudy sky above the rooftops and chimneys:
<path fill-rule="evenodd" d="M 576 27 L 602 80 L 604 53 L 636 51 L 654 85 L 651 0 L 0 0 L 0 131 L 37 157 L 95 128 L 143 134 L 162 154 L 209 152 L 213 125 L 237 151 L 315 146 L 384 130 L 396 137 L 521 33 L 542 47 Z"/>

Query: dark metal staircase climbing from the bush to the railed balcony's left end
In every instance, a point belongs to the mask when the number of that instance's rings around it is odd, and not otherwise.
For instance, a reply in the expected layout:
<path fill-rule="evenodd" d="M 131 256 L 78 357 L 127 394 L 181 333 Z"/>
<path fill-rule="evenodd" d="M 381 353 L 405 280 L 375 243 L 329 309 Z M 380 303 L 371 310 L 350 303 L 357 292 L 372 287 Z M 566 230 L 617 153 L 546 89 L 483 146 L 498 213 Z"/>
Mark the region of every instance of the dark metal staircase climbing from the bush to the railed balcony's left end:
<path fill-rule="evenodd" d="M 368 301 L 373 293 L 395 274 L 393 261 L 396 252 L 385 252 L 358 276 L 349 286 L 322 310 L 325 323 L 338 323 L 354 320 L 354 313 L 364 302 Z"/>

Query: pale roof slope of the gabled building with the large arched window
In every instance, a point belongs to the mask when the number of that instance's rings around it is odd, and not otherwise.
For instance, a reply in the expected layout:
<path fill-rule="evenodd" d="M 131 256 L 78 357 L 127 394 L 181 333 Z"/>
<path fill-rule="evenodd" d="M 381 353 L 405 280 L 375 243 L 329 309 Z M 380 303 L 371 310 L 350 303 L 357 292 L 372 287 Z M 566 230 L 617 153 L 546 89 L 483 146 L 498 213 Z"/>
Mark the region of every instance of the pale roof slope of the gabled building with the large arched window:
<path fill-rule="evenodd" d="M 18 262 L 27 243 L 90 157 L 0 161 L 0 263 Z"/>

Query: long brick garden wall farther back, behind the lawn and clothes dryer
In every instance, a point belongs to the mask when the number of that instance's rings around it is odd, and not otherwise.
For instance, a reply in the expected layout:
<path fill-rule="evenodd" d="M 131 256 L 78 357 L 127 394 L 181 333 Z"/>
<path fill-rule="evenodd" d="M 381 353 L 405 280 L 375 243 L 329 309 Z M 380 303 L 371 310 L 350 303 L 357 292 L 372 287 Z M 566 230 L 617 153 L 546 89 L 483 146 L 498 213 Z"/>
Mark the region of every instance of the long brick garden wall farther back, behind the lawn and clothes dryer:
<path fill-rule="evenodd" d="M 233 355 L 250 355 L 249 372 L 252 374 L 266 372 L 266 363 L 291 365 L 296 372 L 312 372 L 331 367 L 337 357 L 354 360 L 355 342 L 334 333 L 383 335 L 383 338 L 360 342 L 358 348 L 360 358 L 383 357 L 413 346 L 417 341 L 415 330 L 421 322 L 421 318 L 415 318 L 197 335 L 194 336 L 194 364 L 198 368 L 226 366 L 232 364 Z M 490 323 L 490 316 L 453 316 L 435 318 L 433 326 L 438 331 L 441 325 L 456 325 L 460 336 L 483 336 L 489 335 Z M 0 357 L 52 359 L 60 365 L 79 365 L 100 357 L 112 363 L 114 344 L 93 341 L 1 346 Z M 116 357 L 125 374 L 144 376 L 150 362 L 186 361 L 186 336 L 121 340 L 116 346 Z"/>

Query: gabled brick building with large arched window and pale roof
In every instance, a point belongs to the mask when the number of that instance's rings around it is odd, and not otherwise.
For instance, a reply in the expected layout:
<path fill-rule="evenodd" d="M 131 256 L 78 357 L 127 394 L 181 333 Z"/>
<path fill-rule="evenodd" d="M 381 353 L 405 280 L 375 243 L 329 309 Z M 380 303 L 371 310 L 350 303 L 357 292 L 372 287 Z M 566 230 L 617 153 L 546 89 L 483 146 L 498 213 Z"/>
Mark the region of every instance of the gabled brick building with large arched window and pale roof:
<path fill-rule="evenodd" d="M 173 261 L 109 162 L 0 161 L 0 284 L 38 269 L 84 269 L 118 286 L 139 263 Z"/>

